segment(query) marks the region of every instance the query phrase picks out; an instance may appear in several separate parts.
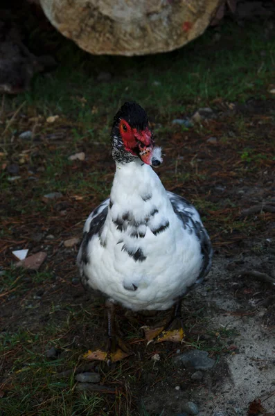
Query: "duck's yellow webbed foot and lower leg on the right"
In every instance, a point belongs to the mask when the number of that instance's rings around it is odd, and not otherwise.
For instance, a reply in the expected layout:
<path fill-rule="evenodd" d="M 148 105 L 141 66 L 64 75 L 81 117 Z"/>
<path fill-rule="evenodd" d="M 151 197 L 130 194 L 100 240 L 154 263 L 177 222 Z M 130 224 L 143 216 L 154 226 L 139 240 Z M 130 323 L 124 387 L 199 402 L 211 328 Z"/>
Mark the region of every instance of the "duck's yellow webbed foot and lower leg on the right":
<path fill-rule="evenodd" d="M 181 300 L 175 304 L 175 309 L 172 314 L 172 319 L 161 328 L 150 329 L 149 327 L 142 327 L 145 339 L 148 341 L 147 345 L 154 343 L 163 343 L 170 341 L 172 343 L 181 343 L 184 339 L 184 328 L 181 320 Z"/>

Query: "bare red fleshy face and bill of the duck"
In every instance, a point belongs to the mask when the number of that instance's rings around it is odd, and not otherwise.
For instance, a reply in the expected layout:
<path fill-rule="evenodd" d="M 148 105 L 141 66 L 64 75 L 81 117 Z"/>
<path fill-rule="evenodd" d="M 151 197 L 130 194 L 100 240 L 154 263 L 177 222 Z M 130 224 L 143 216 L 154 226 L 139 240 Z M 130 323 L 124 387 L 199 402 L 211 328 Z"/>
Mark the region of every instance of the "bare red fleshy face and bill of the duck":
<path fill-rule="evenodd" d="M 136 128 L 131 128 L 129 123 L 125 120 L 121 120 L 119 125 L 119 131 L 125 150 L 132 153 L 132 155 L 139 156 L 145 164 L 151 164 L 152 162 L 152 133 L 149 128 L 139 132 Z M 136 150 L 139 149 L 138 154 Z"/>

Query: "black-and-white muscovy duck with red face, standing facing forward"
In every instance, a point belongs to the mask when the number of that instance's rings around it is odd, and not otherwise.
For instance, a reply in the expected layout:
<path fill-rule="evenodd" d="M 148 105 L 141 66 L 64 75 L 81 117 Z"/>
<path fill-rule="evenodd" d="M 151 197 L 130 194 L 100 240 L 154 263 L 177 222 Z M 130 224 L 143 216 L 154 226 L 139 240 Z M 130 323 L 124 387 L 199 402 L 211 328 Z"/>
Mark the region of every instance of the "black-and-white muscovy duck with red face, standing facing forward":
<path fill-rule="evenodd" d="M 111 139 L 111 195 L 86 220 L 78 266 L 83 286 L 107 298 L 104 358 L 116 361 L 115 347 L 127 347 L 114 333 L 114 304 L 133 311 L 175 305 L 168 331 L 180 318 L 182 297 L 209 272 L 212 248 L 195 207 L 166 191 L 153 171 L 162 162 L 161 149 L 139 104 L 127 102 L 117 112 Z"/>

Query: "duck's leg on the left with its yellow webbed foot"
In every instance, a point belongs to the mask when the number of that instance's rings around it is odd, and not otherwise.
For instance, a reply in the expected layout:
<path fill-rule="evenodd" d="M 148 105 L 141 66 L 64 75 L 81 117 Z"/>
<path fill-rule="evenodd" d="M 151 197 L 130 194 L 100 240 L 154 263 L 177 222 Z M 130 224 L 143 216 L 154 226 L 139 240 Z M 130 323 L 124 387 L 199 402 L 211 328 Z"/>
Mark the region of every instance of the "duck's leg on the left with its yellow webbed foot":
<path fill-rule="evenodd" d="M 84 358 L 88 360 L 107 361 L 108 364 L 121 361 L 123 358 L 132 354 L 130 347 L 117 335 L 115 308 L 116 306 L 111 300 L 106 300 L 105 307 L 107 309 L 107 351 L 97 349 L 96 351 L 89 351 Z"/>

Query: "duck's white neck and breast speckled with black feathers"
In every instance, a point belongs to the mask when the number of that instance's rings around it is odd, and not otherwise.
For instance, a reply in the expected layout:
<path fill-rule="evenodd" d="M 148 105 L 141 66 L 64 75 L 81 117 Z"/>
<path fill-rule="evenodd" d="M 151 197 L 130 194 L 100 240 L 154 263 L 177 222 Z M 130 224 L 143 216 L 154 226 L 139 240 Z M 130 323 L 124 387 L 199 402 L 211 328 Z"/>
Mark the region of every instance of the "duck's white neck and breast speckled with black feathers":
<path fill-rule="evenodd" d="M 87 244 L 89 286 L 129 309 L 168 309 L 202 268 L 195 232 L 184 229 L 150 166 L 117 166 L 111 200 L 101 235 Z"/>

